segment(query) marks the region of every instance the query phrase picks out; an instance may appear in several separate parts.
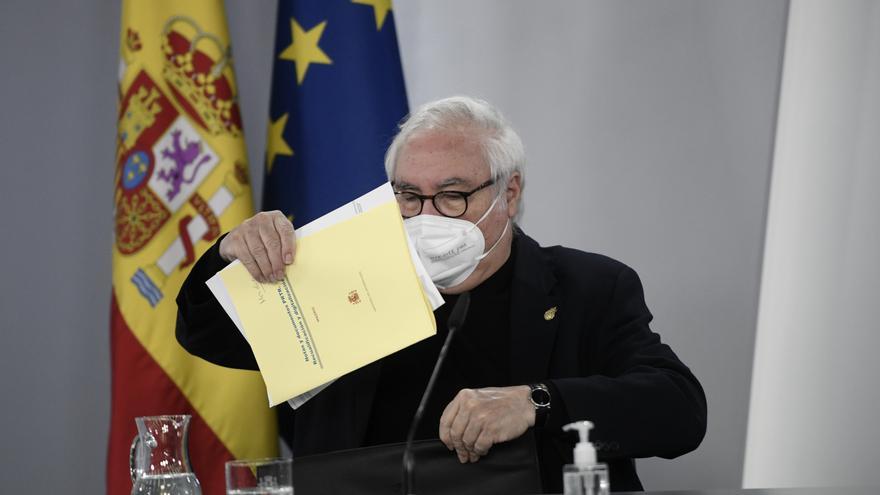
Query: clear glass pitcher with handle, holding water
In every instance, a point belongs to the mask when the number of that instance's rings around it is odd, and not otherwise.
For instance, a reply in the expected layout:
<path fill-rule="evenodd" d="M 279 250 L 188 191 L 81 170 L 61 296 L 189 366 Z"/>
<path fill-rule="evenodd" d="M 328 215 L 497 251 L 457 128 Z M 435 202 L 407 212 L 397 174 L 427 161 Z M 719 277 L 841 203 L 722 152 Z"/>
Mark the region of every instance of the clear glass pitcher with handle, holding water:
<path fill-rule="evenodd" d="M 188 414 L 135 418 L 138 434 L 131 442 L 131 494 L 202 495 L 189 464 Z"/>

